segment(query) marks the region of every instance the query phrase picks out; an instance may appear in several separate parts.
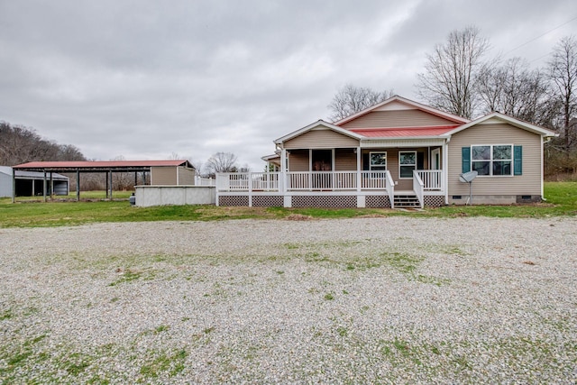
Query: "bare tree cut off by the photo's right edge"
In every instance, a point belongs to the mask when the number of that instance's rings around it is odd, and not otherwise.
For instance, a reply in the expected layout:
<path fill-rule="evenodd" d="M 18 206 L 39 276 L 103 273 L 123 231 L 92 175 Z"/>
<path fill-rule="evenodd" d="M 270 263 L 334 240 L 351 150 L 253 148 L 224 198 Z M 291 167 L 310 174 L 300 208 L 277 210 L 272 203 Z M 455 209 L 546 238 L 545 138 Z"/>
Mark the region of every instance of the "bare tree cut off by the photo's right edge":
<path fill-rule="evenodd" d="M 564 37 L 555 46 L 549 61 L 549 77 L 555 91 L 556 125 L 562 134 L 564 151 L 569 154 L 577 143 L 577 40 L 574 37 Z"/>

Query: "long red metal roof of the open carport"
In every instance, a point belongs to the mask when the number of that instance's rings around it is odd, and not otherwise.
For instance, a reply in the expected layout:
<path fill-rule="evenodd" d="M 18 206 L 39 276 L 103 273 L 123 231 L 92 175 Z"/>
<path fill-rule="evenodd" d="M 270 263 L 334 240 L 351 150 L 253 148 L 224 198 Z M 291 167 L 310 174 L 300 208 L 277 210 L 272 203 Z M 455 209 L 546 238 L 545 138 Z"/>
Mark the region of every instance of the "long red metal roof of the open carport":
<path fill-rule="evenodd" d="M 188 160 L 95 160 L 95 161 L 31 161 L 14 169 L 94 169 L 122 167 L 190 166 Z"/>

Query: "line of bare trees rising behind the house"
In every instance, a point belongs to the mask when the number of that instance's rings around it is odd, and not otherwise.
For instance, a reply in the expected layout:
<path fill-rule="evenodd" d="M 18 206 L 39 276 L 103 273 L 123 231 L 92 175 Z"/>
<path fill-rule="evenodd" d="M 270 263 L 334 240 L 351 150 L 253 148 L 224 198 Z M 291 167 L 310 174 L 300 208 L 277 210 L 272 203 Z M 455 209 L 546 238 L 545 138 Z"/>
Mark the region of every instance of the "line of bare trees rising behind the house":
<path fill-rule="evenodd" d="M 453 115 L 473 119 L 497 111 L 552 129 L 559 137 L 546 143 L 545 174 L 577 173 L 577 40 L 563 37 L 538 69 L 522 58 L 487 58 L 489 49 L 477 27 L 450 32 L 426 55 L 417 95 Z M 392 94 L 346 85 L 328 105 L 330 118 L 338 121 Z"/>

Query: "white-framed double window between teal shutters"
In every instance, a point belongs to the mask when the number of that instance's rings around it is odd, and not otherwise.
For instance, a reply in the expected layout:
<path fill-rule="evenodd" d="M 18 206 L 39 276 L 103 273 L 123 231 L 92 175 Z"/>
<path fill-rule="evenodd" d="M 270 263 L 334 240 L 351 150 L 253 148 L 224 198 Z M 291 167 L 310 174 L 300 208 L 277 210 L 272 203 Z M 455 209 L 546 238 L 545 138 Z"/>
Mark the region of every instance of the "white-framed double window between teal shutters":
<path fill-rule="evenodd" d="M 513 146 L 510 144 L 471 146 L 471 163 L 471 169 L 477 171 L 479 175 L 513 175 Z"/>

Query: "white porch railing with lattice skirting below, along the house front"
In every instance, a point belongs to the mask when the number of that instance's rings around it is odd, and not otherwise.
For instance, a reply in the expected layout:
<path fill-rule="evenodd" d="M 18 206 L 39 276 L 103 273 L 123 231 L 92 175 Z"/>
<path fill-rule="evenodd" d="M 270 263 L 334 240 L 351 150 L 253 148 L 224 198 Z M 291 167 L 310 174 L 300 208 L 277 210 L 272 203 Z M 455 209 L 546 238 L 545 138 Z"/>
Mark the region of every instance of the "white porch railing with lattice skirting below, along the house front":
<path fill-rule="evenodd" d="M 396 188 L 389 170 L 234 172 L 216 175 L 216 204 L 223 206 L 393 208 L 399 197 L 405 203 L 410 202 L 409 206 L 443 205 L 444 171 L 413 170 L 411 189 Z"/>

